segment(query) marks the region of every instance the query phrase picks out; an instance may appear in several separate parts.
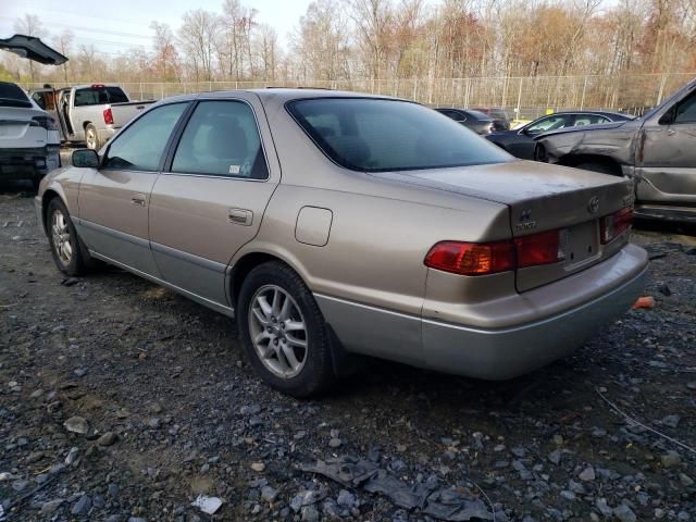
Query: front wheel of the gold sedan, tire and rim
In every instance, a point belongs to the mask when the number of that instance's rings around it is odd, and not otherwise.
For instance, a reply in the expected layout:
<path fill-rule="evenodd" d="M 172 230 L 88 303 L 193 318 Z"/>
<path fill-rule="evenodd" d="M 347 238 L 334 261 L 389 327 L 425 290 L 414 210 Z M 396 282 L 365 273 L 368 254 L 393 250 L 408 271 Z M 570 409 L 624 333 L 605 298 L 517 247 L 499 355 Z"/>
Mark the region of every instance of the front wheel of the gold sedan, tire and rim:
<path fill-rule="evenodd" d="M 53 198 L 48 203 L 46 229 L 58 270 L 73 276 L 85 273 L 89 260 L 86 259 L 85 248 L 70 219 L 70 212 L 59 198 Z"/>

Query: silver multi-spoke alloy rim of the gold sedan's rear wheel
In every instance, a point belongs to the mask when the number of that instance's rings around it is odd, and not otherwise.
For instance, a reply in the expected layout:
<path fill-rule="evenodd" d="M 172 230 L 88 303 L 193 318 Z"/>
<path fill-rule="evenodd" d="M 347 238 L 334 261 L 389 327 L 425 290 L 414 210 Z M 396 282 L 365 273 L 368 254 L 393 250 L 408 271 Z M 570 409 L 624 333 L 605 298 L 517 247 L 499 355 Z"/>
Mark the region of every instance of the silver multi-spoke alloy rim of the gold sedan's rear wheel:
<path fill-rule="evenodd" d="M 290 295 L 262 286 L 251 298 L 249 333 L 263 365 L 283 378 L 296 376 L 307 362 L 307 326 Z"/>

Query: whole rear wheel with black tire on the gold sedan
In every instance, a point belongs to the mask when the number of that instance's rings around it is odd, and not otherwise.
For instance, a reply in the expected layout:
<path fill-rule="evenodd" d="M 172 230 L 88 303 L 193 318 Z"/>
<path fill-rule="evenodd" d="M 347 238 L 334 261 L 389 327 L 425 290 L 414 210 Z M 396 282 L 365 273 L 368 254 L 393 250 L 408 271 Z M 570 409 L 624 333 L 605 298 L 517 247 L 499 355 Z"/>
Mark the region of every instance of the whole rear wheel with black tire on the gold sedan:
<path fill-rule="evenodd" d="M 332 383 L 326 324 L 295 271 L 277 261 L 257 266 L 245 278 L 237 304 L 245 351 L 266 384 L 303 398 Z"/>

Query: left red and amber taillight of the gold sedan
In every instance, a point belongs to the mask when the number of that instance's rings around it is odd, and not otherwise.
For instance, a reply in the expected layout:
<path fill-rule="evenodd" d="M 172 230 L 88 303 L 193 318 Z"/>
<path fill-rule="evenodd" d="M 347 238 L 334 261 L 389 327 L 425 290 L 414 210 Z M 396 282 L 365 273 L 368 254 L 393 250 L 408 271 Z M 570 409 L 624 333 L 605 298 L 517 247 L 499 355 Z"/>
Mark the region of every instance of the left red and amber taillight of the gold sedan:
<path fill-rule="evenodd" d="M 440 241 L 425 256 L 425 265 L 460 275 L 486 275 L 566 259 L 563 232 L 549 231 L 511 241 Z"/>

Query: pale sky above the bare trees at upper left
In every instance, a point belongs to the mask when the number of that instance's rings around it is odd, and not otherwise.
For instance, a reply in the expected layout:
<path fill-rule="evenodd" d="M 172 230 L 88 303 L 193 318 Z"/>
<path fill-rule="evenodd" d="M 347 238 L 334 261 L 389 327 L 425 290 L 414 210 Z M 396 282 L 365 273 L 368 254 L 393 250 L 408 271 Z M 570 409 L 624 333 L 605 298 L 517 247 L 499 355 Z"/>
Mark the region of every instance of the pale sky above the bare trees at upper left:
<path fill-rule="evenodd" d="M 244 0 L 259 11 L 258 21 L 272 25 L 285 47 L 287 34 L 297 25 L 311 0 Z M 222 13 L 223 0 L 0 0 L 0 38 L 14 34 L 14 21 L 25 13 L 36 14 L 45 28 L 55 35 L 70 28 L 75 45 L 95 47 L 117 54 L 133 46 L 149 48 L 152 42 L 150 23 L 156 20 L 179 26 L 182 15 L 192 9 Z"/>

